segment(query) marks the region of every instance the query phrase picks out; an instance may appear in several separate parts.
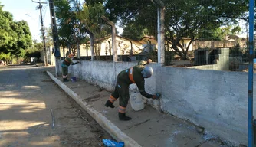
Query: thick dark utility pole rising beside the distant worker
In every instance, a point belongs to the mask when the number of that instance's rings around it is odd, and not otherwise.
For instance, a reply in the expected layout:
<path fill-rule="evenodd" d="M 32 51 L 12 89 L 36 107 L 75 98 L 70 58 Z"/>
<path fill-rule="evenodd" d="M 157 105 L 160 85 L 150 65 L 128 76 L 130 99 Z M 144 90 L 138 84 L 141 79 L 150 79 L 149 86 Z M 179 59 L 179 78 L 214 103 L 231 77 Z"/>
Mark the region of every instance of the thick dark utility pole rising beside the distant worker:
<path fill-rule="evenodd" d="M 60 47 L 59 47 L 59 38 L 57 34 L 57 23 L 54 11 L 54 1 L 49 0 L 49 8 L 50 8 L 50 15 L 51 15 L 51 30 L 52 30 L 52 38 L 54 41 L 54 56 L 55 56 L 55 76 L 58 77 L 60 75 Z M 64 57 L 63 57 L 64 58 Z"/>

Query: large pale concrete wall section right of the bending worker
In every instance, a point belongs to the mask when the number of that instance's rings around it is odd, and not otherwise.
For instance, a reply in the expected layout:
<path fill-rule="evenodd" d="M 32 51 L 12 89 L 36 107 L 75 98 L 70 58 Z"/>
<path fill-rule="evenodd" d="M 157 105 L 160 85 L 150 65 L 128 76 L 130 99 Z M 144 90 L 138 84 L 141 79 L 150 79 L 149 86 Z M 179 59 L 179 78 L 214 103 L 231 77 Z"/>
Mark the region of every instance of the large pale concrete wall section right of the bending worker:
<path fill-rule="evenodd" d="M 236 145 L 247 144 L 248 73 L 169 67 L 161 71 L 164 112 Z"/>

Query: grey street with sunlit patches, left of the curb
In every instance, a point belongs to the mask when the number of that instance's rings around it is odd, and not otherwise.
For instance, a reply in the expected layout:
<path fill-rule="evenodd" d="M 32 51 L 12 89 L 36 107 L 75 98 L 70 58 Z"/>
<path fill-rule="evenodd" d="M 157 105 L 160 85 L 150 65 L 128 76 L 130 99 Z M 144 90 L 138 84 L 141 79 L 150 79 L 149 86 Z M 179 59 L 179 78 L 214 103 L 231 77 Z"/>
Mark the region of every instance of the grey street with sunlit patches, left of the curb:
<path fill-rule="evenodd" d="M 0 146 L 103 146 L 111 137 L 45 70 L 0 67 Z"/>

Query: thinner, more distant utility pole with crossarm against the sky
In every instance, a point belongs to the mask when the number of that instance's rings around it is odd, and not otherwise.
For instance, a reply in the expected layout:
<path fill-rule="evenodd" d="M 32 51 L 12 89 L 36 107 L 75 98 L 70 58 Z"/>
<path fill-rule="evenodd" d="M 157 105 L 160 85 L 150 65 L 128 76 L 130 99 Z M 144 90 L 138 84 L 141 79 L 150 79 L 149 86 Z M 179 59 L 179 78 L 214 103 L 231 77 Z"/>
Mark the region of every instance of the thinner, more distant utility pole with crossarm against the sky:
<path fill-rule="evenodd" d="M 34 1 L 32 0 L 32 2 L 34 2 Z M 41 11 L 41 8 L 43 7 L 41 4 L 46 4 L 46 2 L 41 2 L 39 0 L 39 2 L 36 2 L 36 3 L 39 3 L 38 8 L 40 9 L 41 32 L 43 35 L 43 44 L 44 44 L 44 66 L 48 66 L 48 57 L 47 57 L 48 55 L 47 55 L 47 51 L 46 51 L 45 36 L 44 36 L 44 22 L 43 22 L 43 16 L 42 16 L 42 11 Z"/>

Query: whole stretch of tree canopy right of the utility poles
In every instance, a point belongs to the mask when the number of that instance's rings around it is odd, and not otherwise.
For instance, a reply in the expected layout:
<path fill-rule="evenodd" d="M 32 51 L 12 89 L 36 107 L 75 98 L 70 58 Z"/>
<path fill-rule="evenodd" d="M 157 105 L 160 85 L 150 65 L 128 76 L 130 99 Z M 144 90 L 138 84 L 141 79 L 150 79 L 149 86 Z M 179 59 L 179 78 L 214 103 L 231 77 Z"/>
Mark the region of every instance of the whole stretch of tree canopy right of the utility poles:
<path fill-rule="evenodd" d="M 234 26 L 241 19 L 248 21 L 248 0 L 162 0 L 165 5 L 165 41 L 182 59 L 187 59 L 189 46 L 196 39 L 220 41 L 241 28 Z M 61 42 L 84 42 L 90 31 L 94 38 L 110 33 L 101 15 L 124 28 L 123 37 L 138 40 L 144 35 L 156 37 L 157 8 L 149 0 L 56 0 L 56 16 Z M 222 28 L 223 26 L 227 26 Z M 184 47 L 183 38 L 191 42 Z M 79 42 L 80 43 L 80 42 Z"/>

